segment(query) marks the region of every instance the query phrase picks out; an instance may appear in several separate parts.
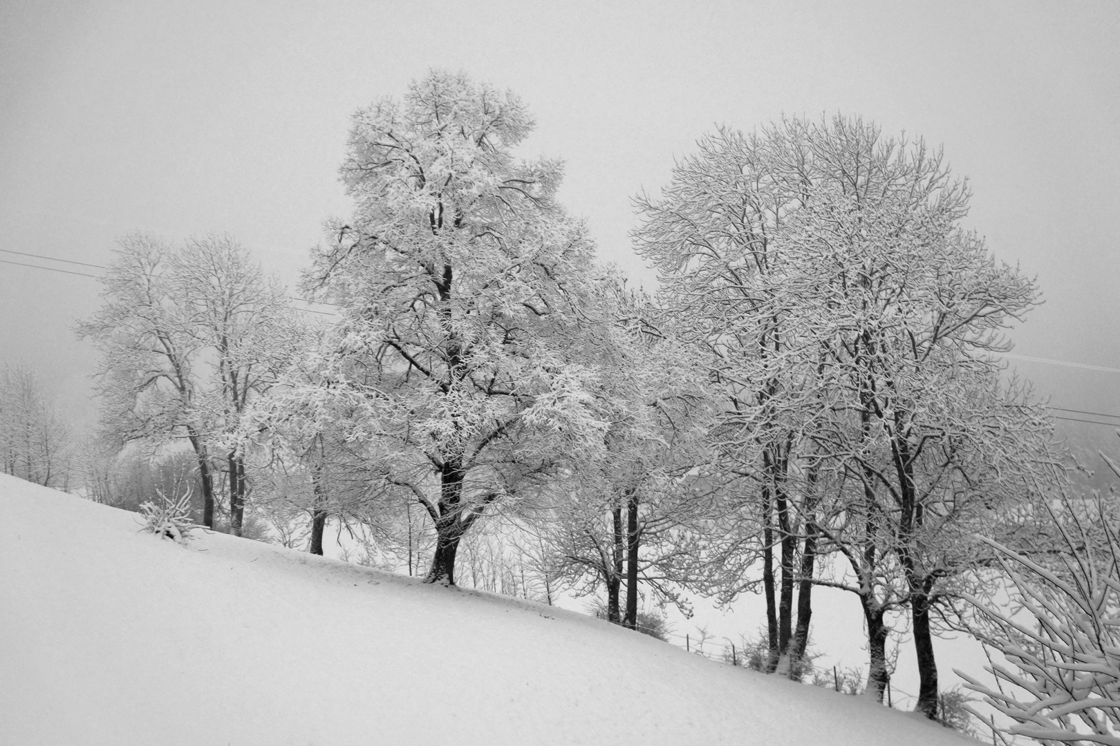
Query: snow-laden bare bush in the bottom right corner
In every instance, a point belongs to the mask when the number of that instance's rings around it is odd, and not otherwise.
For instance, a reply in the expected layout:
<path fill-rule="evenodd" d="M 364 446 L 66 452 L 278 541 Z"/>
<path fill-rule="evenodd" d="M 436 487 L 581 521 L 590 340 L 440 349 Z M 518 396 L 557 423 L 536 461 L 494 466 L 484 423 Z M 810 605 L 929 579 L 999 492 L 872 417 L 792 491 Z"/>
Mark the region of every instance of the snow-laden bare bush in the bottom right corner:
<path fill-rule="evenodd" d="M 1105 460 L 1108 461 L 1108 460 Z M 1109 465 L 1116 469 L 1114 464 Z M 1012 605 L 967 596 L 982 642 L 1006 664 L 996 688 L 958 673 L 1014 724 L 993 730 L 1054 744 L 1120 745 L 1120 537 L 1114 494 L 1047 508 L 1058 548 L 1019 553 L 986 540 L 1010 580 Z"/>

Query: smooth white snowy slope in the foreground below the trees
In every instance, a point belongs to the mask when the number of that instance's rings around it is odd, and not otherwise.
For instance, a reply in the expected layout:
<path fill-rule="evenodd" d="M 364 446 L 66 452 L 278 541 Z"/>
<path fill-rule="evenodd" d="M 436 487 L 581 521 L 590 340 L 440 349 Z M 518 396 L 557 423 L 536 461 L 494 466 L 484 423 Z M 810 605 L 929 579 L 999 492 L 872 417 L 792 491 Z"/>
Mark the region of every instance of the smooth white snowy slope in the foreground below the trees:
<path fill-rule="evenodd" d="M 4 746 L 978 743 L 556 607 L 183 547 L 6 474 L 0 511 Z"/>

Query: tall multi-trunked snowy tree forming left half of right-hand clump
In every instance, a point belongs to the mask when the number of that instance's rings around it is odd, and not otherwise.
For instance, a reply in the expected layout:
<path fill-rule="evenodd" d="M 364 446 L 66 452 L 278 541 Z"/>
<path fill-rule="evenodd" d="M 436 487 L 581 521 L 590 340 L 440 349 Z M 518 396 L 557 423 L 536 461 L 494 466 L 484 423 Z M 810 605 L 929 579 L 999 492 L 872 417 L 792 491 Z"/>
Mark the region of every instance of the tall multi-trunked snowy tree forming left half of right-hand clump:
<path fill-rule="evenodd" d="M 812 567 L 799 563 L 801 512 L 808 512 L 799 511 L 808 474 L 799 448 L 821 408 L 821 350 L 816 320 L 803 312 L 811 291 L 796 271 L 799 247 L 786 240 L 791 216 L 806 199 L 808 153 L 794 132 L 777 130 L 721 130 L 699 145 L 676 164 L 660 199 L 637 199 L 643 223 L 635 239 L 659 271 L 660 302 L 682 321 L 687 340 L 707 350 L 722 390 L 717 483 L 736 485 L 720 492 L 738 516 L 727 526 L 740 538 L 729 537 L 713 566 L 722 576 L 730 566 L 760 561 L 774 670 L 794 640 L 799 569 Z M 814 556 L 811 541 L 809 548 Z M 743 559 L 731 563 L 728 553 Z M 808 593 L 804 601 L 808 625 Z"/>

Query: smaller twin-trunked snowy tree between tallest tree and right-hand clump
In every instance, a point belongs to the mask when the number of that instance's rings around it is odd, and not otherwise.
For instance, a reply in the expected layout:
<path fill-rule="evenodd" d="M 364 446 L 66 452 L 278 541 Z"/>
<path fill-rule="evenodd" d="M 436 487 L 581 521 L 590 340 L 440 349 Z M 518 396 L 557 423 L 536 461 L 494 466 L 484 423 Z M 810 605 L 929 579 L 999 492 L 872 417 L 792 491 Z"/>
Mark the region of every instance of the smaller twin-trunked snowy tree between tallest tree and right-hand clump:
<path fill-rule="evenodd" d="M 605 321 L 592 389 L 604 446 L 538 530 L 553 567 L 581 594 L 605 589 L 606 618 L 636 629 L 640 584 L 676 603 L 689 577 L 697 527 L 685 478 L 708 460 L 712 404 L 700 357 L 659 327 L 647 296 L 605 277 L 592 308 Z"/>

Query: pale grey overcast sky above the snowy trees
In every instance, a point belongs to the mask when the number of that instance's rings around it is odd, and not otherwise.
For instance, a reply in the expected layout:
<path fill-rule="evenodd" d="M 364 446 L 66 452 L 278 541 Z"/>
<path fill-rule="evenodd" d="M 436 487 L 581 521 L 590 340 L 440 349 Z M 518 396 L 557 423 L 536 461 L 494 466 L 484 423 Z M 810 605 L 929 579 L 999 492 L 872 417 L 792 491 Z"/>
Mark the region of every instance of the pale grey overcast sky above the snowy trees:
<path fill-rule="evenodd" d="M 221 232 L 293 280 L 347 215 L 349 115 L 446 67 L 521 95 L 524 154 L 567 161 L 562 200 L 646 284 L 631 198 L 715 126 L 839 111 L 924 136 L 969 177 L 969 226 L 1042 285 L 1016 353 L 1120 368 L 1114 0 L 175 4 L 0 3 L 0 248 L 104 264 L 133 229 Z M 69 327 L 97 290 L 0 264 L 0 361 L 85 418 L 95 355 Z M 1056 406 L 1120 414 L 1120 374 L 1015 365 Z"/>

